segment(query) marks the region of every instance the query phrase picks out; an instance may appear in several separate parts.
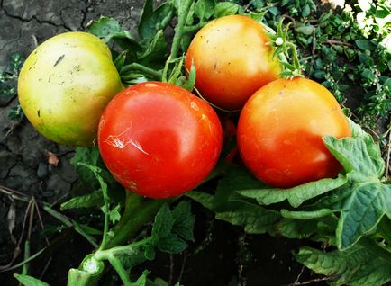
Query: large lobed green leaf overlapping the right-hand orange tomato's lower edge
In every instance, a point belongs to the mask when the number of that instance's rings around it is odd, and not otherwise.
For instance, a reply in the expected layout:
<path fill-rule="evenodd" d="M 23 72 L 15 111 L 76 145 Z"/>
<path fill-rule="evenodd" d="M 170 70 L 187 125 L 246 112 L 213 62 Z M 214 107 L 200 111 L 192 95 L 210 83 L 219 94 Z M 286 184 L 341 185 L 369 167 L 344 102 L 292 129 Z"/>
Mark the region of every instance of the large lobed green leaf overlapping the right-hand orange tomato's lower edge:
<path fill-rule="evenodd" d="M 384 215 L 391 217 L 391 185 L 382 184 L 378 179 L 384 170 L 379 148 L 359 125 L 350 122 L 350 126 L 352 138 L 324 139 L 349 178 L 349 183 L 336 192 L 339 196 L 323 200 L 324 208 L 341 212 L 336 230 L 340 249 L 353 246 L 360 237 L 376 228 Z"/>

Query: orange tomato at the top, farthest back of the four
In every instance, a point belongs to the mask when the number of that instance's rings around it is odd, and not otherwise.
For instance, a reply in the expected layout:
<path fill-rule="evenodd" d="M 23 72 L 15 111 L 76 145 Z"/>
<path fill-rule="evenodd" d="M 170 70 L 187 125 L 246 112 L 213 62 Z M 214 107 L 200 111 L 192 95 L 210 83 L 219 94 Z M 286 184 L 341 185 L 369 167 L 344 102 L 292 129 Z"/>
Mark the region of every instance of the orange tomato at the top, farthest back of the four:
<path fill-rule="evenodd" d="M 186 68 L 195 65 L 195 87 L 210 103 L 237 110 L 281 72 L 263 26 L 242 15 L 218 18 L 195 35 Z"/>

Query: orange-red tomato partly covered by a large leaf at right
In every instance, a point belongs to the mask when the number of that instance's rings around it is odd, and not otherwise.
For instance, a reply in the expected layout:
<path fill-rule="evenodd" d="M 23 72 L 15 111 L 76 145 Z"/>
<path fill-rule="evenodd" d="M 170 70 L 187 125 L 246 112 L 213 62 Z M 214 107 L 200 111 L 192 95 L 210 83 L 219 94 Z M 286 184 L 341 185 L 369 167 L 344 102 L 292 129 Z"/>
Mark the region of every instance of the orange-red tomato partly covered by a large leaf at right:
<path fill-rule="evenodd" d="M 238 146 L 244 164 L 261 181 L 293 187 L 341 171 L 323 136 L 351 136 L 333 95 L 310 79 L 277 79 L 244 105 Z"/>

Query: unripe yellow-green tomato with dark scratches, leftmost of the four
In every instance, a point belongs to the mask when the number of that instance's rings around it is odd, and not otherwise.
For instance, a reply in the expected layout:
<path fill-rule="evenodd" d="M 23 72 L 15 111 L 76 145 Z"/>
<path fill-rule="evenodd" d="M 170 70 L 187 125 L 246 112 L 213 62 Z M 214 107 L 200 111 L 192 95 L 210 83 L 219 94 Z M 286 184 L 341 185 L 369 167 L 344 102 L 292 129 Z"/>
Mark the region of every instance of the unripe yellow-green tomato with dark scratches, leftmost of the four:
<path fill-rule="evenodd" d="M 123 90 L 105 42 L 67 32 L 43 42 L 26 59 L 19 102 L 32 126 L 59 144 L 93 145 L 105 105 Z"/>

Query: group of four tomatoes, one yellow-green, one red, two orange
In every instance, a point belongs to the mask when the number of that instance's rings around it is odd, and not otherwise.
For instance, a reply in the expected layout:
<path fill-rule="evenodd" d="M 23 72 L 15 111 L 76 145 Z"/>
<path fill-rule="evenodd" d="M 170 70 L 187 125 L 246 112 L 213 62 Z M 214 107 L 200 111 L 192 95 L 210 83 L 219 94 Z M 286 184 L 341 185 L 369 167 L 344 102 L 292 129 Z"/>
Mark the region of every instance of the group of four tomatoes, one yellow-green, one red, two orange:
<path fill-rule="evenodd" d="M 214 169 L 223 130 L 209 103 L 241 110 L 240 156 L 263 182 L 286 188 L 335 176 L 341 165 L 322 137 L 350 136 L 347 119 L 323 85 L 280 78 L 273 53 L 265 29 L 249 17 L 208 23 L 186 53 L 202 99 L 161 82 L 123 89 L 105 43 L 64 33 L 27 58 L 19 100 L 32 125 L 60 144 L 91 145 L 97 134 L 114 178 L 150 198 L 187 192 Z"/>

